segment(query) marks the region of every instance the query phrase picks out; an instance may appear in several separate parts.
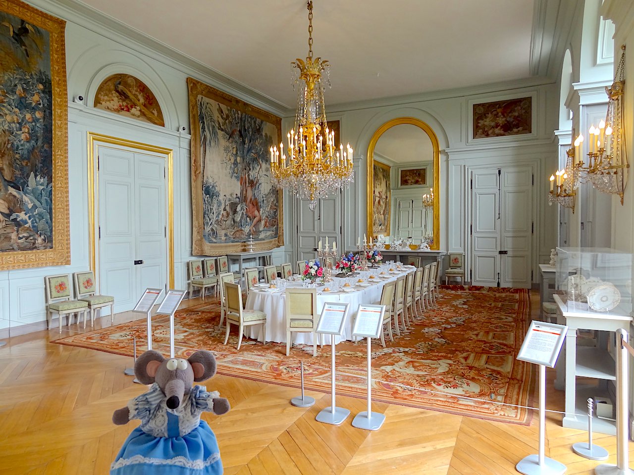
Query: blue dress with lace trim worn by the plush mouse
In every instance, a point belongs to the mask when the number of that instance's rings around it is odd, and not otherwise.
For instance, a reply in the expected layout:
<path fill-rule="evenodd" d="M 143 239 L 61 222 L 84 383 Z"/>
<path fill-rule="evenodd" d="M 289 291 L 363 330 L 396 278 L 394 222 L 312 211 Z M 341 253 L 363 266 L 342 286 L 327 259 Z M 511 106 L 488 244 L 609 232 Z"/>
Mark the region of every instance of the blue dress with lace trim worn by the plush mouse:
<path fill-rule="evenodd" d="M 157 383 L 128 403 L 129 418 L 141 425 L 128 436 L 110 467 L 110 475 L 221 475 L 223 462 L 216 435 L 200 414 L 212 411 L 218 391 L 194 386 L 176 409 Z"/>

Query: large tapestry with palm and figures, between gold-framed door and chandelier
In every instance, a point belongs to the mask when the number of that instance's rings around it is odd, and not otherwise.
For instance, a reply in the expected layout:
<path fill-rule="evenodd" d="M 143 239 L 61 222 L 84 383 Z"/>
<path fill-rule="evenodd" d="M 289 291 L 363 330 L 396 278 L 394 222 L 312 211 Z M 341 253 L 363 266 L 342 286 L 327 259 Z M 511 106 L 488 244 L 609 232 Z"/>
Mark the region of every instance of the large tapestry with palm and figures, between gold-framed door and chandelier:
<path fill-rule="evenodd" d="M 269 149 L 281 118 L 188 78 L 193 255 L 284 244 L 282 195 L 271 182 Z"/>

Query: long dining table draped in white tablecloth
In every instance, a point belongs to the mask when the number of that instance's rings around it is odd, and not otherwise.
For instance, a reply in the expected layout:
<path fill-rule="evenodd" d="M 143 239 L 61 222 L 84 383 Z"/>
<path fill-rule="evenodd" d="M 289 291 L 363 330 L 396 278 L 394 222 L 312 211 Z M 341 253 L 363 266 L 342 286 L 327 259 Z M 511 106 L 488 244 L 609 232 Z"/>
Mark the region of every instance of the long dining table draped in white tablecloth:
<path fill-rule="evenodd" d="M 390 270 L 393 269 L 393 270 Z M 398 277 L 415 272 L 413 266 L 400 266 L 382 264 L 378 269 L 359 272 L 355 277 L 333 277 L 333 282 L 328 282 L 317 288 L 317 313 L 321 314 L 325 303 L 349 303 L 348 318 L 344 326 L 344 332 L 340 337 L 335 337 L 335 343 L 353 339 L 353 325 L 357 310 L 361 304 L 378 303 L 381 299 L 383 287 L 387 282 L 396 281 Z M 384 274 L 381 274 L 383 272 Z M 373 276 L 371 278 L 370 276 Z M 281 279 L 280 279 L 281 280 Z M 358 282 L 362 280 L 363 282 Z M 344 287 L 344 284 L 350 284 Z M 275 289 L 252 288 L 245 308 L 261 310 L 266 314 L 266 341 L 277 343 L 286 342 L 286 292 L 285 289 L 302 288 L 301 281 L 284 281 Z M 330 291 L 325 291 L 325 289 Z M 344 290 L 346 289 L 346 290 Z M 244 329 L 245 336 L 259 338 L 261 327 L 249 326 Z M 292 333 L 292 343 L 313 345 L 313 333 Z M 330 338 L 323 339 L 324 344 L 330 344 Z"/>

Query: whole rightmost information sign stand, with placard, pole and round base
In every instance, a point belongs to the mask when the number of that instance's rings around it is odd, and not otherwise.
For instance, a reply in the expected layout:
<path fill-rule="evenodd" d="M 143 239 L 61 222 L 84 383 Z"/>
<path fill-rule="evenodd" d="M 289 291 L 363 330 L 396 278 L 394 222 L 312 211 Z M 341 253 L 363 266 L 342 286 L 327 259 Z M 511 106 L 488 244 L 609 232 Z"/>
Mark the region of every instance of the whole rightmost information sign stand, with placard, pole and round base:
<path fill-rule="evenodd" d="M 566 466 L 557 460 L 545 457 L 546 441 L 546 367 L 554 367 L 557 355 L 566 339 L 568 327 L 533 320 L 528 328 L 518 360 L 534 363 L 540 367 L 540 439 L 539 453 L 520 460 L 515 469 L 526 475 L 561 475 Z"/>

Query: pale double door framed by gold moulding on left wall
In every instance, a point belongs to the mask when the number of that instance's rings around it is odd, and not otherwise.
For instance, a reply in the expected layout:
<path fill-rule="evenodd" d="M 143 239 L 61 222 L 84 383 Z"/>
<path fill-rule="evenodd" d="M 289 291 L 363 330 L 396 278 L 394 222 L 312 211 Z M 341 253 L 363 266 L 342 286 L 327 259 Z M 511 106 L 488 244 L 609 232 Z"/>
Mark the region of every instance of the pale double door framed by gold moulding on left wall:
<path fill-rule="evenodd" d="M 165 160 L 101 148 L 98 175 L 100 291 L 123 312 L 167 281 Z"/>

